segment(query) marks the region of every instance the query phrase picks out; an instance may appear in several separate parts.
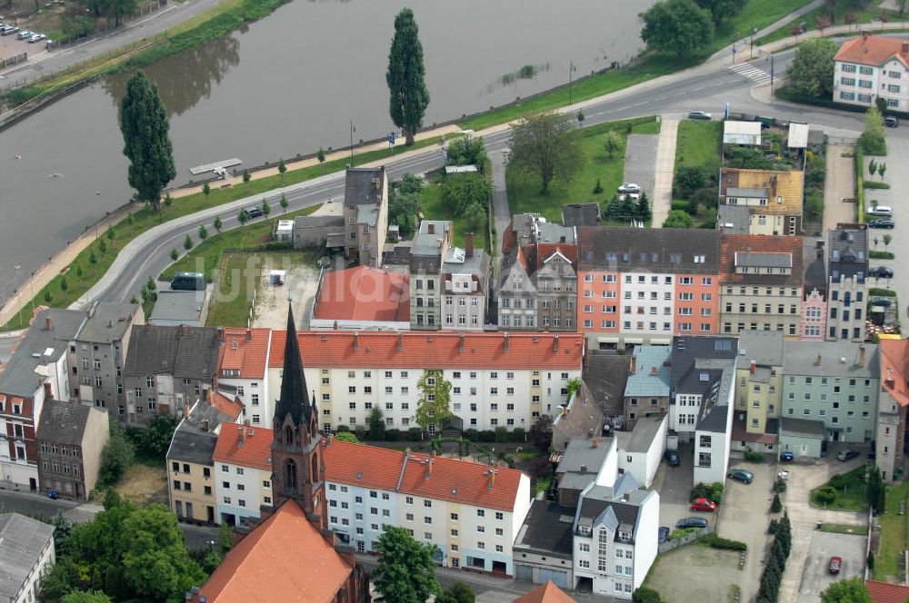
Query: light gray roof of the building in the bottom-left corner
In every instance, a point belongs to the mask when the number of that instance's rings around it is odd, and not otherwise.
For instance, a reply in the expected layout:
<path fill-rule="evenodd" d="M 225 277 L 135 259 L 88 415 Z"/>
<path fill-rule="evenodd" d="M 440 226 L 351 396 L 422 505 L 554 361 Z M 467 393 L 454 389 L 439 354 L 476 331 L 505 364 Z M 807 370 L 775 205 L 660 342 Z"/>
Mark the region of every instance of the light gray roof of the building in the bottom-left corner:
<path fill-rule="evenodd" d="M 47 543 L 54 526 L 18 513 L 0 515 L 0 598 L 15 600 Z"/>

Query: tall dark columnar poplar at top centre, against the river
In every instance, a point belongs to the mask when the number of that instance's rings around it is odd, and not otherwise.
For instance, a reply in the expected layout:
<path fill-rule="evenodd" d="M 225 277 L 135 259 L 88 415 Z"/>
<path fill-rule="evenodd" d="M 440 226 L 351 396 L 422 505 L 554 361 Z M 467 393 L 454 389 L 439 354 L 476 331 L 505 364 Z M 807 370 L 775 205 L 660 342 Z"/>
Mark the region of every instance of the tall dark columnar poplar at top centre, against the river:
<path fill-rule="evenodd" d="M 423 44 L 414 11 L 404 8 L 395 16 L 395 37 L 388 52 L 388 71 L 385 81 L 390 93 L 389 113 L 392 122 L 401 128 L 408 145 L 423 126 L 423 116 L 429 104 L 429 90 L 424 81 Z"/>

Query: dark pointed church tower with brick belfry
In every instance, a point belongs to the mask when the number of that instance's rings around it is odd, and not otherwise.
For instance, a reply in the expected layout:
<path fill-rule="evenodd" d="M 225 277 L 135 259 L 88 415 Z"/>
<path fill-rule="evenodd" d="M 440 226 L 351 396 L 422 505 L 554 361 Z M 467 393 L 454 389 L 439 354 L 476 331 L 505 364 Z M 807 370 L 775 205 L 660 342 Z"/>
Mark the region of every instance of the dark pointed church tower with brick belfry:
<path fill-rule="evenodd" d="M 318 516 L 321 529 L 328 529 L 325 509 L 325 471 L 320 443 L 319 416 L 315 400 L 309 400 L 300 342 L 296 337 L 294 312 L 287 309 L 287 341 L 281 398 L 275 404 L 272 423 L 272 487 L 275 503 L 295 499 L 307 517 Z"/>

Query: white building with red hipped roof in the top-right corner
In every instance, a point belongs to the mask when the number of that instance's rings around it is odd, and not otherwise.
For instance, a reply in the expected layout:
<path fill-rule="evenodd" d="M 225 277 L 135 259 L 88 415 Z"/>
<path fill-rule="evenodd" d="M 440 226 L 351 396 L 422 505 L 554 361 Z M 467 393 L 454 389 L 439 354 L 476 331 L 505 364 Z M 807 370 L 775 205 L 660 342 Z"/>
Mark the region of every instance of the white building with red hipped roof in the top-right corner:
<path fill-rule="evenodd" d="M 909 42 L 864 32 L 834 56 L 834 101 L 868 106 L 880 97 L 894 111 L 909 106 Z"/>

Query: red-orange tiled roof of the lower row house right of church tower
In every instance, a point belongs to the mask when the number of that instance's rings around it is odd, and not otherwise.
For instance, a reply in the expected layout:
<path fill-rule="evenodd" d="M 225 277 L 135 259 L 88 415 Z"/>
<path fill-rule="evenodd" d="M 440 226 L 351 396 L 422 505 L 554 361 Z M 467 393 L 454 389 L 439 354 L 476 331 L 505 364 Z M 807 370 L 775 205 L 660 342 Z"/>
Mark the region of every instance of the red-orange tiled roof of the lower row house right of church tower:
<path fill-rule="evenodd" d="M 405 452 L 338 440 L 332 440 L 323 450 L 327 481 L 366 488 L 397 489 L 424 498 L 451 500 L 489 509 L 514 510 L 514 500 L 523 475 L 518 470 L 495 468 L 490 488 L 487 470 L 492 468 L 488 465 L 414 452 L 410 453 L 405 463 Z M 427 479 L 429 460 L 432 460 L 432 470 Z"/>

